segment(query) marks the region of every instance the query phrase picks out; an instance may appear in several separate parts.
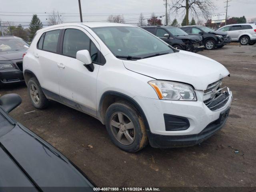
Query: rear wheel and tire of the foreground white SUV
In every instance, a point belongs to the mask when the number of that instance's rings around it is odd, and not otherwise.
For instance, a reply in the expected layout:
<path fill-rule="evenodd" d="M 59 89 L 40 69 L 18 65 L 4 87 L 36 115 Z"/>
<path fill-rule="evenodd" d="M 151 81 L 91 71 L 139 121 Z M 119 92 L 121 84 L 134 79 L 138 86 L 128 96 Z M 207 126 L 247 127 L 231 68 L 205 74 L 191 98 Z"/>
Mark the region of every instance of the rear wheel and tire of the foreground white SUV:
<path fill-rule="evenodd" d="M 28 80 L 28 96 L 32 105 L 37 109 L 44 109 L 49 104 L 38 80 L 34 77 Z"/>

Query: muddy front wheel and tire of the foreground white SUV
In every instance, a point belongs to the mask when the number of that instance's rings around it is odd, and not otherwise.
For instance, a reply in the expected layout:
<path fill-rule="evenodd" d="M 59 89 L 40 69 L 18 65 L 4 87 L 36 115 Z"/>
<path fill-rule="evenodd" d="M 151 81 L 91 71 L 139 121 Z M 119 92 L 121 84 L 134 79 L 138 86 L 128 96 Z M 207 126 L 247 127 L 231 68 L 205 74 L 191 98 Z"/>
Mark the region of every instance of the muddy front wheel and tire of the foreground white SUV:
<path fill-rule="evenodd" d="M 112 142 L 127 152 L 137 152 L 148 144 L 142 116 L 129 103 L 111 104 L 105 115 L 106 129 Z"/>

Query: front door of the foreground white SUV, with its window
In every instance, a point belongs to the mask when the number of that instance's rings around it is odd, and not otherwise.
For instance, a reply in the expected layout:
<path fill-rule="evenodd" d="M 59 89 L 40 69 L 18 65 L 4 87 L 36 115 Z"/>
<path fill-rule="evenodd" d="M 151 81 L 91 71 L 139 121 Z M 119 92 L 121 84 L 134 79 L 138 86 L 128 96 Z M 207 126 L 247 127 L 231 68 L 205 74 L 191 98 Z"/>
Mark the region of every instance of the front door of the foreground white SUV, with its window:
<path fill-rule="evenodd" d="M 97 62 L 100 46 L 83 28 L 64 30 L 62 57 L 57 64 L 61 100 L 68 106 L 96 116 L 96 81 L 100 65 L 93 64 L 94 70 L 89 70 L 76 59 L 76 52 L 88 50 L 92 61 Z"/>

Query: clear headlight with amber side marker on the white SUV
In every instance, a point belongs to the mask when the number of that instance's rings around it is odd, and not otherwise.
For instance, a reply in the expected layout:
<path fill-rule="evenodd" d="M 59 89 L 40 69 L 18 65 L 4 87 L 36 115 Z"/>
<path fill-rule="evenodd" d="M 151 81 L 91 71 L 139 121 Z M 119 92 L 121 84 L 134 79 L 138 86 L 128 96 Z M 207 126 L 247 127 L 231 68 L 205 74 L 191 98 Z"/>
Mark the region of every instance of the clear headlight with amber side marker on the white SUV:
<path fill-rule="evenodd" d="M 148 82 L 162 100 L 185 100 L 196 101 L 196 93 L 192 86 L 182 83 L 169 81 L 150 81 Z"/>

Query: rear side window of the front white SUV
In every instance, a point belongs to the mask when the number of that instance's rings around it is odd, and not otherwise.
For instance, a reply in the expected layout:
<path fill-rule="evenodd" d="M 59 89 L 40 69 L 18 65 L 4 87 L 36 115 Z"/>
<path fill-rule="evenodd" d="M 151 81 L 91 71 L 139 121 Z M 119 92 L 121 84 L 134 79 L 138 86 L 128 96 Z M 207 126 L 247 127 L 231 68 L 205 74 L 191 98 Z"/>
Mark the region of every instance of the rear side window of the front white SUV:
<path fill-rule="evenodd" d="M 59 35 L 60 35 L 60 30 L 53 30 L 53 31 L 46 32 L 44 35 L 42 50 L 56 53 Z M 39 48 L 39 44 L 38 44 L 38 48 Z"/>

